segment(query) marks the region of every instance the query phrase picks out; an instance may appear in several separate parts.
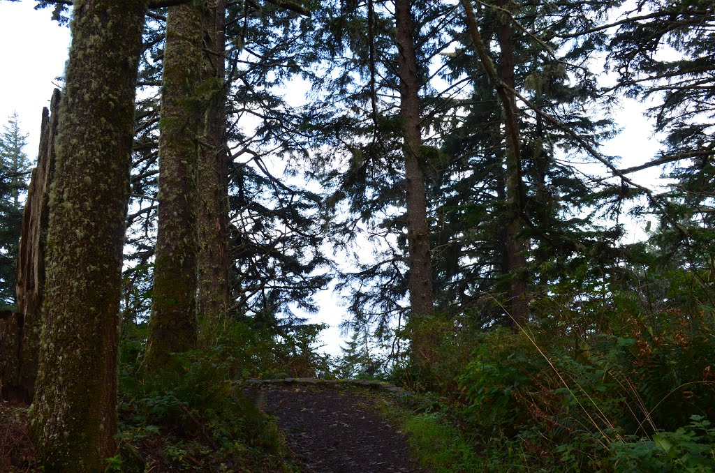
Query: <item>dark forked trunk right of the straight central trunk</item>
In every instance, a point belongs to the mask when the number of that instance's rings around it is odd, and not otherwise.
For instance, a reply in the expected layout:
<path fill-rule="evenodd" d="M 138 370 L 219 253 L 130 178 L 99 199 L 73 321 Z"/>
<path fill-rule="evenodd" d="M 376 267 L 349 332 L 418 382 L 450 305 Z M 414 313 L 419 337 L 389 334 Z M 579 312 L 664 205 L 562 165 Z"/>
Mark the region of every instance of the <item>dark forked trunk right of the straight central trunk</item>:
<path fill-rule="evenodd" d="M 497 71 L 489 56 L 484 41 L 479 33 L 477 20 L 470 0 L 460 0 L 464 7 L 467 26 L 472 37 L 475 52 L 501 100 L 504 110 L 504 129 L 506 139 L 506 200 L 508 223 L 504 231 L 505 270 L 511 273 L 509 309 L 515 329 L 528 322 L 528 301 L 526 299 L 526 257 L 523 252 L 526 245 L 518 237 L 523 229 L 523 181 L 521 179 L 521 156 L 519 146 L 518 109 L 512 90 L 514 81 L 514 56 L 511 21 L 503 20 L 497 31 L 501 46 L 501 67 Z M 500 0 L 499 6 L 505 7 L 506 1 Z"/>

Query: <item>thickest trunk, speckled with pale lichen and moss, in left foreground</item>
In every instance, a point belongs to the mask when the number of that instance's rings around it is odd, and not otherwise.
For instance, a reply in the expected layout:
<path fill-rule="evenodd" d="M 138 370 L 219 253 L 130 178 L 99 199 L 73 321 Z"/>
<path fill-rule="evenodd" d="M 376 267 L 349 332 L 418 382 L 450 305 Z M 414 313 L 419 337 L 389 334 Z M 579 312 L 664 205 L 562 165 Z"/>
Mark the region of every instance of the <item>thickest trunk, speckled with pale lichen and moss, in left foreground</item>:
<path fill-rule="evenodd" d="M 46 472 L 115 453 L 124 219 L 147 0 L 75 0 L 49 199 L 44 327 L 30 410 Z"/>

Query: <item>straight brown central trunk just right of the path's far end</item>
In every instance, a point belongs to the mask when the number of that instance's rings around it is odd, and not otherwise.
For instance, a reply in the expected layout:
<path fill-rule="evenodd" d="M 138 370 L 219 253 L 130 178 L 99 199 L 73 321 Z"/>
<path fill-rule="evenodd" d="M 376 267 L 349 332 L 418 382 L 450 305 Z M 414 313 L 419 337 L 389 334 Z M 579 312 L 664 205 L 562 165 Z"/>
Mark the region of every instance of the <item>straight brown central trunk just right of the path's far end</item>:
<path fill-rule="evenodd" d="M 430 233 L 427 222 L 425 178 L 420 166 L 422 135 L 417 77 L 417 57 L 413 39 L 413 21 L 409 0 L 395 1 L 397 26 L 398 71 L 400 76 L 400 115 L 403 119 L 403 151 L 405 154 L 405 186 L 407 189 L 407 219 L 410 266 L 410 308 L 413 317 L 425 319 L 434 313 L 432 267 L 430 264 Z M 418 331 L 423 333 L 423 331 Z M 423 335 L 413 337 L 413 352 L 428 361 L 430 349 Z"/>

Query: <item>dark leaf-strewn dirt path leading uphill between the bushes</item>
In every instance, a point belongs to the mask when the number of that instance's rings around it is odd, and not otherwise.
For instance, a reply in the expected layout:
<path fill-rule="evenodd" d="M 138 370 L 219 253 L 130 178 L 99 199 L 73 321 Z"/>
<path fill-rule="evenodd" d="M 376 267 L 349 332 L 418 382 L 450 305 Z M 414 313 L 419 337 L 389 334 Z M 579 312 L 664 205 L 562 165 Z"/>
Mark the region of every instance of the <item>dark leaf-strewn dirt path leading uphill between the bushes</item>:
<path fill-rule="evenodd" d="M 375 412 L 373 398 L 305 386 L 262 386 L 247 394 L 277 417 L 303 472 L 426 473 L 410 457 L 404 434 Z"/>

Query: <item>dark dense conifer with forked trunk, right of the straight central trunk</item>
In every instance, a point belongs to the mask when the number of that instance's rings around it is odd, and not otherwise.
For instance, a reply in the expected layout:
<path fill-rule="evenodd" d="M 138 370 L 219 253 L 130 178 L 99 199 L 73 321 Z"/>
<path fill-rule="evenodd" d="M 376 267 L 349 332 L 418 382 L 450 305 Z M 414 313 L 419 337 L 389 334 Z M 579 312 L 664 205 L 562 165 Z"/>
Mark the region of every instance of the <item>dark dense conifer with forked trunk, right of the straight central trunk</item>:
<path fill-rule="evenodd" d="M 610 4 L 496 2 L 479 4 L 476 11 L 471 4 L 463 1 L 462 11 L 469 9 L 466 23 L 472 26 L 465 25 L 465 34 L 453 31 L 464 46 L 445 55 L 450 79 L 470 77 L 474 92 L 460 105 L 466 115 L 457 117 L 443 148 L 453 159 L 440 190 L 447 197 L 438 211 L 445 222 L 438 243 L 444 259 L 436 261 L 445 294 L 438 299 L 451 310 L 471 307 L 491 318 L 496 314 L 485 307 L 492 303 L 478 294 L 506 293 L 507 301 L 521 305 L 515 310 L 504 304 L 521 324 L 528 308 L 518 294 L 541 290 L 536 284 L 557 274 L 563 278 L 564 264 L 577 261 L 576 246 L 591 247 L 605 236 L 591 218 L 575 218 L 593 202 L 592 189 L 584 185 L 593 178 L 561 159 L 586 159 L 588 144 L 609 136 L 608 119 L 584 113 L 586 104 L 599 110 L 586 66 L 593 45 L 553 37 L 573 31 L 569 18 L 591 21 Z M 500 46 L 494 50 L 493 44 Z M 509 156 L 517 156 L 518 164 Z M 607 240 L 615 238 L 617 232 Z M 515 255 L 521 259 L 516 265 Z"/>

